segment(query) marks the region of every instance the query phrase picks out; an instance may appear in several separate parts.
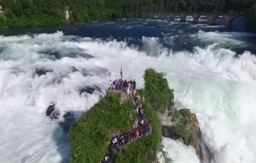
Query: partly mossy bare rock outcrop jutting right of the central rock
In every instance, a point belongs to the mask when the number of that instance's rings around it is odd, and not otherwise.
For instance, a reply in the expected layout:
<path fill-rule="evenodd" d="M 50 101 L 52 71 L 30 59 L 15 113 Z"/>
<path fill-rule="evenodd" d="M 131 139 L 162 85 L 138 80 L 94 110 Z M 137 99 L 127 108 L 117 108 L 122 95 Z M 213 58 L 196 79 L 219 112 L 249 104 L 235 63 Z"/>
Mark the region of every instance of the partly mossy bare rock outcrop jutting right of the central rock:
<path fill-rule="evenodd" d="M 165 138 L 180 139 L 185 145 L 195 148 L 200 162 L 214 161 L 214 155 L 202 138 L 196 115 L 189 109 L 171 109 L 158 113 Z"/>

